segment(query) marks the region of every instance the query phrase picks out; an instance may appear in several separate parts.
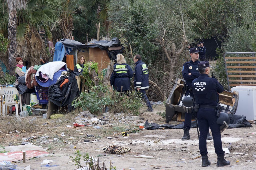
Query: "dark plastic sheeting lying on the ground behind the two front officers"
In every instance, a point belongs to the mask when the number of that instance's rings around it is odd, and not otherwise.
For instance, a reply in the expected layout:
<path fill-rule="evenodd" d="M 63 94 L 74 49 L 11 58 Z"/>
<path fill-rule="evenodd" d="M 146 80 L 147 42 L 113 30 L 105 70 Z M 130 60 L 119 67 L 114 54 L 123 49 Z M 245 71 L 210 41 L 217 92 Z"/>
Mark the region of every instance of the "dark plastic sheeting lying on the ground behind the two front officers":
<path fill-rule="evenodd" d="M 250 122 L 248 122 L 246 120 L 246 116 L 241 116 L 238 114 L 229 114 L 229 118 L 230 118 L 230 124 L 228 128 L 237 128 L 237 127 L 252 127 L 252 125 L 250 124 Z M 163 124 L 163 125 L 159 125 L 156 123 L 148 123 L 148 120 L 146 120 L 144 128 L 145 129 L 160 129 L 160 128 L 169 128 L 169 129 L 183 129 L 184 127 L 184 123 L 179 124 L 179 125 L 171 125 L 171 124 Z M 192 121 L 191 122 L 191 127 L 190 128 L 195 128 L 196 127 L 196 121 Z"/>

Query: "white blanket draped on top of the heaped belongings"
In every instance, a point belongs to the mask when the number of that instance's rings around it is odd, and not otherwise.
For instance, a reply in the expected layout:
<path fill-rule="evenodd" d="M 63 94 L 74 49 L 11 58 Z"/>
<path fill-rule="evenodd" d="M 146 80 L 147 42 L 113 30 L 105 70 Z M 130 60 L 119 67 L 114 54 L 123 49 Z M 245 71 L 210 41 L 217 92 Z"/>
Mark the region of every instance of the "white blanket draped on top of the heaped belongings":
<path fill-rule="evenodd" d="M 51 80 L 53 80 L 54 73 L 59 71 L 63 66 L 65 66 L 66 70 L 68 70 L 67 64 L 65 62 L 62 62 L 62 61 L 48 62 L 48 63 L 42 65 L 37 70 L 36 76 L 40 76 L 39 72 L 41 72 L 42 74 L 46 74 Z M 63 70 L 63 71 L 65 71 L 65 70 Z"/>

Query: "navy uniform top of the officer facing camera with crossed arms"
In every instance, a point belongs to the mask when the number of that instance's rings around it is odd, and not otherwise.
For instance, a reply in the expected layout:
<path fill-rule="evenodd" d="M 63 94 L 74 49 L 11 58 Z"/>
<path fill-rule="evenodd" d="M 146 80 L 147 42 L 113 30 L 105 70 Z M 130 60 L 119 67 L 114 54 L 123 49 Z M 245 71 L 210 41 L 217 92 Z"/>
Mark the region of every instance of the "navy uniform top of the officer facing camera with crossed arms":
<path fill-rule="evenodd" d="M 197 64 L 201 61 L 195 61 L 193 62 L 192 60 L 185 62 L 183 64 L 182 68 L 182 75 L 183 79 L 186 81 L 186 84 L 191 87 L 191 83 L 194 79 L 199 77 L 199 72 L 198 72 L 198 67 Z M 188 75 L 188 73 L 191 73 L 191 75 Z"/>

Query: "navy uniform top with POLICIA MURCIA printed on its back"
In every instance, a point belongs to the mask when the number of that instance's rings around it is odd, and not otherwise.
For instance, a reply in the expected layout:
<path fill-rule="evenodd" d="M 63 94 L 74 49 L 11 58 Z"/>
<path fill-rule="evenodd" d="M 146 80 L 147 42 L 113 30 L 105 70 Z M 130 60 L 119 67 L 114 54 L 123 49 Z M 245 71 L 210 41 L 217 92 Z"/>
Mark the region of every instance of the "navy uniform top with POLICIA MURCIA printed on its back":
<path fill-rule="evenodd" d="M 222 93 L 223 86 L 217 79 L 209 77 L 208 74 L 200 74 L 198 78 L 193 80 L 192 89 L 196 104 L 217 106 L 218 93 Z"/>

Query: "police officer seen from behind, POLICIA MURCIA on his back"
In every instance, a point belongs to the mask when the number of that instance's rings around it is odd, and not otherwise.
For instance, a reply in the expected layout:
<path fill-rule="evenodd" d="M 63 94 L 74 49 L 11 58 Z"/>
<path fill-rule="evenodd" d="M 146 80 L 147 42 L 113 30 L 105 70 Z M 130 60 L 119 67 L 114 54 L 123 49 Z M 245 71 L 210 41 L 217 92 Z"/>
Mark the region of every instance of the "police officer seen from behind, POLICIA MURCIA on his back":
<path fill-rule="evenodd" d="M 202 166 L 210 165 L 206 148 L 206 137 L 208 127 L 210 126 L 214 139 L 215 153 L 218 155 L 217 166 L 227 166 L 230 162 L 224 159 L 220 139 L 220 125 L 216 123 L 218 118 L 216 115 L 216 106 L 219 102 L 217 96 L 218 93 L 223 91 L 223 87 L 216 79 L 208 76 L 210 67 L 208 61 L 198 63 L 200 76 L 192 82 L 195 101 L 196 104 L 199 104 L 197 111 L 197 120 L 200 129 L 199 150 L 202 156 Z"/>

